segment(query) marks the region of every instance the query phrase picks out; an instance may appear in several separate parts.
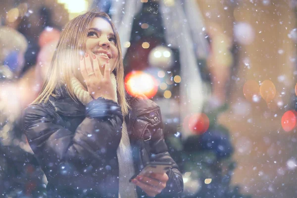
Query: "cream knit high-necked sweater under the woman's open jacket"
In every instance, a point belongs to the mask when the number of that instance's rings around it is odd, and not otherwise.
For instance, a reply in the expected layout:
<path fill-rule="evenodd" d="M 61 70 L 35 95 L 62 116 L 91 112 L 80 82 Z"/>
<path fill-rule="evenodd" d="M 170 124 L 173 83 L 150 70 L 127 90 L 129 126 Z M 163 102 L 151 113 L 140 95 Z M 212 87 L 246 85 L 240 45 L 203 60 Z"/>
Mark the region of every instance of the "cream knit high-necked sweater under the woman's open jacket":
<path fill-rule="evenodd" d="M 116 78 L 113 73 L 111 73 L 110 77 L 117 102 Z M 89 92 L 77 78 L 71 78 L 71 87 L 75 96 L 84 105 L 93 100 Z M 133 166 L 132 149 L 125 120 L 122 125 L 122 138 L 119 147 L 117 148 L 116 154 L 119 162 L 119 198 L 137 198 L 138 196 L 136 193 L 136 186 L 133 183 L 129 183 L 129 179 L 134 175 L 135 170 Z"/>

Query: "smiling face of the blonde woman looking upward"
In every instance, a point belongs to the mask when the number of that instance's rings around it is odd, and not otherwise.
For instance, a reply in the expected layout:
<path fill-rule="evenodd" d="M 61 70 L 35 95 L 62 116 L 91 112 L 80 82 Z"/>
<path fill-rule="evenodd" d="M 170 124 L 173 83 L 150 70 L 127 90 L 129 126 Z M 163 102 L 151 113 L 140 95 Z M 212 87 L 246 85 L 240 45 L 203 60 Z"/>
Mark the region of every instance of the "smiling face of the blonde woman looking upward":
<path fill-rule="evenodd" d="M 115 68 L 118 58 L 116 38 L 111 25 L 106 19 L 95 17 L 90 24 L 86 41 L 86 52 L 90 55 L 91 61 L 95 55 L 98 59 L 100 71 L 104 74 L 104 65 L 109 60 L 110 72 Z"/>

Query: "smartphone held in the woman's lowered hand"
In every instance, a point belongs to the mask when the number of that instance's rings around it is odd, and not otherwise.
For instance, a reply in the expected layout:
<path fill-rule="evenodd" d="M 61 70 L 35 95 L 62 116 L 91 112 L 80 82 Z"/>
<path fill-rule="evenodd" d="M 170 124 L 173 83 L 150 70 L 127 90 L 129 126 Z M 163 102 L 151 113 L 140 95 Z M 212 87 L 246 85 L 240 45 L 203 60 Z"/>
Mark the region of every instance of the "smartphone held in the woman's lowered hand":
<path fill-rule="evenodd" d="M 133 175 L 129 182 L 131 182 L 138 175 L 148 175 L 150 173 L 166 173 L 171 167 L 171 162 L 149 162 L 139 173 Z"/>

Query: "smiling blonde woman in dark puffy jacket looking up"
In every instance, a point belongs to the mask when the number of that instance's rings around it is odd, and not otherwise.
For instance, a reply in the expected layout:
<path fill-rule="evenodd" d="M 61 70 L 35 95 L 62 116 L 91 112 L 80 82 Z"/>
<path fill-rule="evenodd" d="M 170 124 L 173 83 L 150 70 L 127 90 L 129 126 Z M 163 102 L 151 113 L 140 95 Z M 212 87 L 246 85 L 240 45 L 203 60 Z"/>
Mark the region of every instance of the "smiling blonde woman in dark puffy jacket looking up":
<path fill-rule="evenodd" d="M 183 190 L 159 107 L 125 96 L 119 36 L 106 13 L 87 12 L 64 27 L 42 91 L 23 116 L 49 198 L 178 197 Z M 149 161 L 173 167 L 129 183 Z"/>

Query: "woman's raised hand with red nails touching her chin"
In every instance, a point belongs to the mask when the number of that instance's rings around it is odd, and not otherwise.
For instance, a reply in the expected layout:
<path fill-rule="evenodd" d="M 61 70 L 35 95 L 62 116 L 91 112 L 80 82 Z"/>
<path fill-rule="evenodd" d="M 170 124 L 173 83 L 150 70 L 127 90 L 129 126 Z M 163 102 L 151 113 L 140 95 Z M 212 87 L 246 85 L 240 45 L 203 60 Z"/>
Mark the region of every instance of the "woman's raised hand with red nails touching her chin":
<path fill-rule="evenodd" d="M 93 65 L 91 58 L 93 59 Z M 99 67 L 99 62 L 95 55 L 90 57 L 90 55 L 86 53 L 85 56 L 80 58 L 80 71 L 87 85 L 88 92 L 93 99 L 102 97 L 115 101 L 116 92 L 113 90 L 114 88 L 111 83 L 109 60 L 102 66 L 105 67 L 103 75 Z"/>

